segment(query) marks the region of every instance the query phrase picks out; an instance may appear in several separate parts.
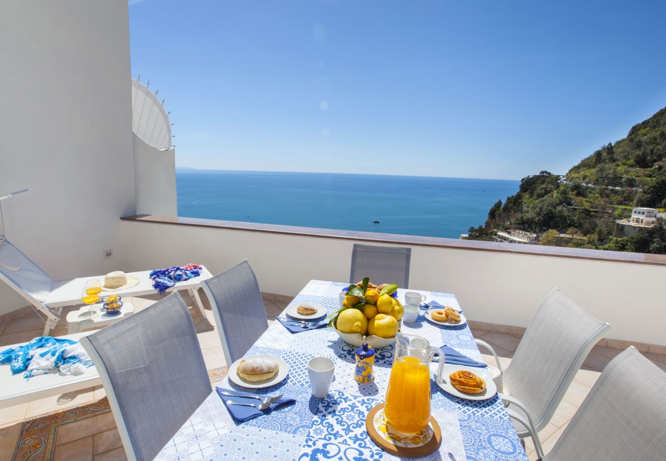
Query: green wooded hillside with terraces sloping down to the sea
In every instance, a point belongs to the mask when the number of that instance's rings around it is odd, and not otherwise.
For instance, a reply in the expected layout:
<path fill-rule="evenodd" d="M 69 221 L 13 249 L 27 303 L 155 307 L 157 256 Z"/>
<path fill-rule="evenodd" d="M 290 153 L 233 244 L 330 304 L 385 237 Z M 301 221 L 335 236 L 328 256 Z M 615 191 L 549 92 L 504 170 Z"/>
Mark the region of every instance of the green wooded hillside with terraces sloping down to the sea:
<path fill-rule="evenodd" d="M 471 227 L 468 238 L 494 240 L 500 230 L 539 234 L 541 244 L 607 250 L 666 253 L 666 229 L 614 238 L 615 220 L 633 207 L 666 207 L 666 108 L 634 125 L 624 139 L 608 143 L 564 177 L 541 171 L 521 180 L 518 193 L 498 201 L 485 225 Z"/>

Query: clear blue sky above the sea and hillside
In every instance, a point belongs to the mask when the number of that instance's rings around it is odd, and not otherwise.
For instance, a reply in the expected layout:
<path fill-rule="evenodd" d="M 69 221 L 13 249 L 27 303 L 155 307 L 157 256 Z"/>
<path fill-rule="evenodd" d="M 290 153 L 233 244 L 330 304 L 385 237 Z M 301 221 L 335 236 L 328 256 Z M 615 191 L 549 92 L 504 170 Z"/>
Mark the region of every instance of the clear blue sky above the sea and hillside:
<path fill-rule="evenodd" d="M 666 2 L 130 0 L 176 166 L 563 174 L 666 106 Z"/>

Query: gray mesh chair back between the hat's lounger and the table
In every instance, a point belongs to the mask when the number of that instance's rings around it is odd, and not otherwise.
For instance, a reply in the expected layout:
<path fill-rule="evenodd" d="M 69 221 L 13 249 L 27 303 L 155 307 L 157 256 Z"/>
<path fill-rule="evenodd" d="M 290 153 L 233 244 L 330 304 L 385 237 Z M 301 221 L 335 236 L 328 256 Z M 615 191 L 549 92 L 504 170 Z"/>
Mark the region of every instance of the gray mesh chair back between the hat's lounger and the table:
<path fill-rule="evenodd" d="M 266 310 L 259 283 L 248 260 L 201 282 L 212 308 L 226 364 L 248 351 L 266 328 Z"/>

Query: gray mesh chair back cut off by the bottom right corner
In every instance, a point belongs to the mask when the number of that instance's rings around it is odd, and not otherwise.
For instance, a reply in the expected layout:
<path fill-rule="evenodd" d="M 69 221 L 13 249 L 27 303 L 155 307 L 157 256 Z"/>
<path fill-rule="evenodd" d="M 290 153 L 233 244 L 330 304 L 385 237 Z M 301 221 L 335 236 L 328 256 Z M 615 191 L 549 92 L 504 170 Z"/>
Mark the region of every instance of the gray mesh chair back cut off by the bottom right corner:
<path fill-rule="evenodd" d="M 629 347 L 606 365 L 544 461 L 666 459 L 666 373 Z"/>

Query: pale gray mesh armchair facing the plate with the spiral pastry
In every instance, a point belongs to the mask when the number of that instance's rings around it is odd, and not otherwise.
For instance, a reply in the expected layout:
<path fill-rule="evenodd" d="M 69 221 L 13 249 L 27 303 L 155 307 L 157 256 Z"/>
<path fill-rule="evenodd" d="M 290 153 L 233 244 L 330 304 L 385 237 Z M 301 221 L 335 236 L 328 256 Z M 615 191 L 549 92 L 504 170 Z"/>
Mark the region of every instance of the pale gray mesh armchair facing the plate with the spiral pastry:
<path fill-rule="evenodd" d="M 510 396 L 500 394 L 520 438 L 531 436 L 542 456 L 539 430 L 545 428 L 591 348 L 611 326 L 598 320 L 557 288 L 539 304 L 506 370 L 495 357 Z"/>

